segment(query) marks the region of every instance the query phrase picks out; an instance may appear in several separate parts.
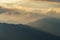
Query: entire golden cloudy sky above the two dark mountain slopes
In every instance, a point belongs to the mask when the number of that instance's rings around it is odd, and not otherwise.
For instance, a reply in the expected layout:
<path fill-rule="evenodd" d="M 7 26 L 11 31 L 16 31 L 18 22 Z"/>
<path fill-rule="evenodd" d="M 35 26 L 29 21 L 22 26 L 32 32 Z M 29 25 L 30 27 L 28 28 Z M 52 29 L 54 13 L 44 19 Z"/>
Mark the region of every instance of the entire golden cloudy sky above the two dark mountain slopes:
<path fill-rule="evenodd" d="M 60 0 L 0 0 L 0 3 L 3 4 L 0 23 L 29 24 L 46 17 L 60 18 Z M 15 6 L 4 6 L 4 3 L 14 3 Z"/>

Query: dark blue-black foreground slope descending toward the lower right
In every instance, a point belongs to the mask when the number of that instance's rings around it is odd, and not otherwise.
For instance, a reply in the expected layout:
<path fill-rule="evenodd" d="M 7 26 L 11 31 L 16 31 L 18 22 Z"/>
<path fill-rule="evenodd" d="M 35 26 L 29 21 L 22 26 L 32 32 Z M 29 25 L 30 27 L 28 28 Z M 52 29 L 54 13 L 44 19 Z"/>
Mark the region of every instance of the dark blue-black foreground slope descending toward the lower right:
<path fill-rule="evenodd" d="M 60 40 L 60 37 L 27 25 L 0 23 L 0 40 Z"/>

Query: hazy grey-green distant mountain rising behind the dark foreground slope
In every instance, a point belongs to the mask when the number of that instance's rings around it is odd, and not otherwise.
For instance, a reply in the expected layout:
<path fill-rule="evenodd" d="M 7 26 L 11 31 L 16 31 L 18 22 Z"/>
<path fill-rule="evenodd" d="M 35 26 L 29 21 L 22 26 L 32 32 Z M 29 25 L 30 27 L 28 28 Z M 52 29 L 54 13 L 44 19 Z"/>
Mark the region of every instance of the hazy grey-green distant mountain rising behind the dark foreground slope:
<path fill-rule="evenodd" d="M 46 32 L 60 36 L 60 19 L 58 18 L 47 17 L 29 24 Z"/>

